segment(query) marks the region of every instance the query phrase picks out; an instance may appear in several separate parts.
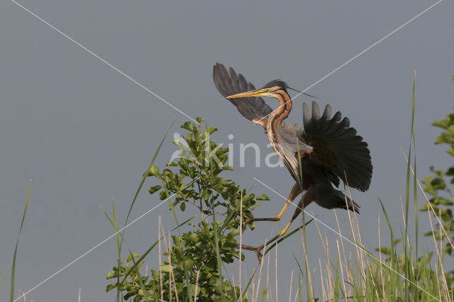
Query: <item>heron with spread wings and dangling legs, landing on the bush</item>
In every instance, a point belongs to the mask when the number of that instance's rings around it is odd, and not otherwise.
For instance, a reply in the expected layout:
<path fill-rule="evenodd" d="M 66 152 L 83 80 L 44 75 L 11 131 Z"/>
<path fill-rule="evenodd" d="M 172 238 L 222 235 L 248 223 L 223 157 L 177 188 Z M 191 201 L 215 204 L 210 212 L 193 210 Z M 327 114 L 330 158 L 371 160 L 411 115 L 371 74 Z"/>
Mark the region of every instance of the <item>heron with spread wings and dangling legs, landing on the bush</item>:
<path fill-rule="evenodd" d="M 359 214 L 358 203 L 336 189 L 342 181 L 344 186 L 367 191 L 372 179 L 372 160 L 367 142 L 357 135 L 355 128 L 350 127 L 348 118 L 342 118 L 340 111 L 331 116 L 329 104 L 321 114 L 316 101 L 312 101 L 312 111 L 303 102 L 304 128 L 301 128 L 297 124 L 283 122 L 293 106 L 287 90 L 292 88 L 284 81 L 273 80 L 255 89 L 242 74 L 237 74 L 232 67 L 227 69 L 221 63 L 213 67 L 213 80 L 219 93 L 236 106 L 243 117 L 265 129 L 272 149 L 295 181 L 277 216 L 246 218 L 245 223 L 280 220 L 289 204 L 304 191 L 289 223 L 266 242 L 267 245 L 287 233 L 289 226 L 309 203 L 315 202 L 328 209 L 343 208 Z M 272 110 L 262 96 L 277 99 L 279 107 Z M 264 246 L 243 245 L 243 248 L 253 250 L 260 260 L 260 251 Z"/>

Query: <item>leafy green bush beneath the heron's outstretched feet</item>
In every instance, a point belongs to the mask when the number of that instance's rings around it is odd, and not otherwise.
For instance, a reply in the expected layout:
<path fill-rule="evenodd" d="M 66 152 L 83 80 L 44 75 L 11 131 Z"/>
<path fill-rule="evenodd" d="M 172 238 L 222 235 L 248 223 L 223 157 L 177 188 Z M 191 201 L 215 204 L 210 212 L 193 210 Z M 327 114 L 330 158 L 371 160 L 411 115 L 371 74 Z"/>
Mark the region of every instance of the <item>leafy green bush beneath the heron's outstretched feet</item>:
<path fill-rule="evenodd" d="M 224 171 L 233 170 L 225 165 L 228 149 L 210 139 L 216 128 L 202 130 L 203 120 L 197 118 L 197 121 L 199 125 L 184 123 L 181 128 L 187 130 L 187 135 L 181 141 L 174 140 L 181 149 L 179 158 L 167 162 L 164 169 L 150 167 L 145 176 L 160 181 L 148 191 L 162 201 L 168 200 L 177 225 L 177 206 L 182 212 L 187 206 L 196 208 L 200 220 L 187 223 L 193 230 L 173 235 L 170 247 L 166 241 L 165 260 L 158 269 L 151 270 L 150 276 L 141 276 L 139 270 L 144 256 L 156 243 L 139 259 L 135 259 L 139 255 L 131 254 L 126 265 L 121 262 L 109 272 L 107 278 L 116 279 L 116 283 L 109 284 L 106 290 L 119 289 L 125 300 L 192 301 L 196 296 L 197 301 L 235 301 L 240 297 L 238 286 L 222 274 L 223 264 L 244 259 L 237 249 L 239 227 L 243 223 L 240 205 L 243 204 L 243 217 L 253 218 L 257 201 L 269 198 L 265 194 L 248 194 L 234 181 L 221 177 Z M 216 221 L 219 218 L 222 219 Z M 248 226 L 254 228 L 253 223 Z M 161 238 L 161 241 L 165 240 Z"/>

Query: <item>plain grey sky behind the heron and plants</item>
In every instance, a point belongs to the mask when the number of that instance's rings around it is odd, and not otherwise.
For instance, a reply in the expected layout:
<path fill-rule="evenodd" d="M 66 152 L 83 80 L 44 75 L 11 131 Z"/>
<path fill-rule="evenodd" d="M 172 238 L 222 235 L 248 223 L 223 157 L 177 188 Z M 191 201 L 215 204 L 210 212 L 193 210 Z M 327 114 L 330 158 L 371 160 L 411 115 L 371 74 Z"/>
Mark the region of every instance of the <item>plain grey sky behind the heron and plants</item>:
<path fill-rule="evenodd" d="M 435 2 L 20 3 L 188 116 L 206 118 L 220 129 L 216 142 L 233 142 L 236 148 L 241 142 L 256 142 L 267 150 L 262 129 L 241 117 L 216 91 L 211 79 L 214 63 L 234 67 L 256 86 L 283 79 L 306 89 Z M 365 193 L 353 192 L 353 197 L 361 206 L 360 228 L 371 250 L 377 247 L 377 216 L 384 221 L 377 196 L 393 225 L 402 225 L 399 195 L 404 194 L 406 170 L 399 148 L 407 150 L 409 145 L 414 70 L 419 178 L 428 174 L 430 165 L 440 167 L 449 160 L 443 147 L 433 145 L 439 131 L 431 122 L 453 110 L 453 11 L 453 1 L 442 1 L 308 91 L 321 106 L 331 104 L 333 111 L 348 116 L 370 145 L 372 186 Z M 11 1 L 0 2 L 0 38 L 0 272 L 11 261 L 28 181 L 33 179 L 16 268 L 16 287 L 28 291 L 113 233 L 99 206 L 110 211 L 114 198 L 118 216 L 124 219 L 165 130 L 176 118 L 172 132 L 179 131 L 177 125 L 188 118 Z M 294 100 L 289 121 L 302 122 L 301 101 L 310 99 Z M 267 102 L 276 107 L 276 101 Z M 228 134 L 234 135 L 233 141 Z M 171 141 L 166 140 L 157 158 L 160 167 L 176 150 Z M 285 196 L 293 185 L 285 168 L 254 167 L 252 152 L 246 167 L 226 177 L 270 196 L 272 201 L 262 204 L 256 216 L 274 215 L 284 201 L 253 177 Z M 140 194 L 132 218 L 157 204 L 157 196 L 150 197 L 146 190 L 150 184 Z M 315 204 L 307 210 L 335 226 L 332 211 Z M 291 214 L 275 225 L 275 232 Z M 338 214 L 346 226 L 346 212 Z M 126 239 L 133 250 L 140 253 L 157 239 L 159 215 L 165 227 L 172 228 L 167 206 L 157 208 L 128 228 Z M 428 230 L 426 216 L 421 216 L 420 228 Z M 245 240 L 259 244 L 258 238 L 271 229 L 271 223 L 262 223 Z M 320 240 L 314 225 L 307 230 L 309 257 L 317 264 Z M 336 236 L 323 231 L 334 247 Z M 383 238 L 388 242 L 386 235 Z M 295 267 L 287 259 L 292 254 L 301 259 L 301 251 L 297 235 L 279 245 L 283 289 Z M 255 255 L 246 255 L 250 268 L 255 267 Z M 86 301 L 112 301 L 113 294 L 105 293 L 105 276 L 115 259 L 110 240 L 28 298 L 74 301 L 81 286 Z M 157 267 L 157 252 L 147 264 Z M 8 297 L 6 281 L 0 301 Z"/>

